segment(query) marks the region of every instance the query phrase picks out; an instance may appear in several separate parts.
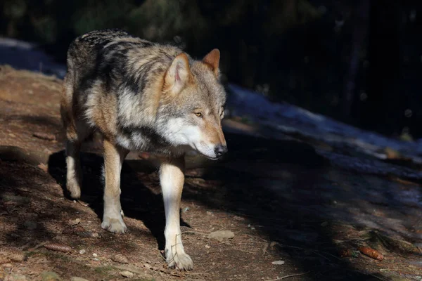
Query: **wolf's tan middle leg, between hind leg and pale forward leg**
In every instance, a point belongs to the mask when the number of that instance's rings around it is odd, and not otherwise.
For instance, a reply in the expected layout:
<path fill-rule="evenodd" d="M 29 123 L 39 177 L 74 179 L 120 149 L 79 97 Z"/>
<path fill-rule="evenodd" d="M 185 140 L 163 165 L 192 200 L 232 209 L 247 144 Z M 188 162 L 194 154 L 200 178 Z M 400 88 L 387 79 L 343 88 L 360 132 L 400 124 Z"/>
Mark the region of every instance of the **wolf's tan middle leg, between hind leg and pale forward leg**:
<path fill-rule="evenodd" d="M 122 218 L 120 206 L 120 171 L 127 150 L 104 140 L 104 214 L 101 227 L 112 233 L 124 233 L 127 227 Z"/>

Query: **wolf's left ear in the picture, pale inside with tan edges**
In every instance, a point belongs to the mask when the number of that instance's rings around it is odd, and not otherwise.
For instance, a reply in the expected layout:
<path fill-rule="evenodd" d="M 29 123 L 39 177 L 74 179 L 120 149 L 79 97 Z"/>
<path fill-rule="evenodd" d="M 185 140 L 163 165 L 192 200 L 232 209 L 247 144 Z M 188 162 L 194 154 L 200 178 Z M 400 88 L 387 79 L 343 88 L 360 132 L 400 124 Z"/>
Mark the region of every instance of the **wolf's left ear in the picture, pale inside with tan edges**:
<path fill-rule="evenodd" d="M 191 76 L 191 67 L 186 53 L 181 53 L 174 58 L 172 65 L 165 74 L 164 89 L 172 94 L 180 93 L 188 84 Z"/>

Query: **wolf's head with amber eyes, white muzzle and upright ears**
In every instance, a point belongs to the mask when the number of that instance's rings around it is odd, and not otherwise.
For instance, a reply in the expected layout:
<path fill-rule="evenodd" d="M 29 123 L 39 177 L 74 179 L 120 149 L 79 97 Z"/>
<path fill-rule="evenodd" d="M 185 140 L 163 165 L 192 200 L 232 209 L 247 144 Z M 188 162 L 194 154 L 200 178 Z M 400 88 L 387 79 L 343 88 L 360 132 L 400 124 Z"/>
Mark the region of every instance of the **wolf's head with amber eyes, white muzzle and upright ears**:
<path fill-rule="evenodd" d="M 160 131 L 172 145 L 189 145 L 210 159 L 226 151 L 222 131 L 226 93 L 219 81 L 219 51 L 202 61 L 185 53 L 167 69 L 158 120 Z"/>

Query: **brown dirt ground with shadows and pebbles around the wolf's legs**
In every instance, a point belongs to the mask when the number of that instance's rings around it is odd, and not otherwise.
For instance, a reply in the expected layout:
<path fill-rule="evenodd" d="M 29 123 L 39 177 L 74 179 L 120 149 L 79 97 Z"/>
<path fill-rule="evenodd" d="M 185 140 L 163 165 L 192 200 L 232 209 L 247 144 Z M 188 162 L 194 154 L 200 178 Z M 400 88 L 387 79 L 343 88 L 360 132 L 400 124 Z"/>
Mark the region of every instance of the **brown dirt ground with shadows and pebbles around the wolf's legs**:
<path fill-rule="evenodd" d="M 0 67 L 0 280 L 422 280 L 420 183 L 345 169 L 317 153 L 329 145 L 251 136 L 265 131 L 234 119 L 225 159 L 187 157 L 181 225 L 194 269 L 167 268 L 159 159 L 129 154 L 129 233 L 102 230 L 98 142 L 82 153 L 81 202 L 65 192 L 60 91 L 60 79 Z M 217 230 L 234 237 L 208 237 Z"/>

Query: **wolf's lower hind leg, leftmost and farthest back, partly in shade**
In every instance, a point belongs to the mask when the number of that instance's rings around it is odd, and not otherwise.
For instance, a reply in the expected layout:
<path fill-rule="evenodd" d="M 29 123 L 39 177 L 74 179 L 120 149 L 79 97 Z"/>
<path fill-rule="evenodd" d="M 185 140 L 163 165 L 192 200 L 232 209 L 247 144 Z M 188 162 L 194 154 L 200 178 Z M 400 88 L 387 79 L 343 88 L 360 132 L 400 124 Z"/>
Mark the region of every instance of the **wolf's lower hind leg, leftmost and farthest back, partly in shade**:
<path fill-rule="evenodd" d="M 79 199 L 81 197 L 82 169 L 79 160 L 80 141 L 66 142 L 66 164 L 68 172 L 66 175 L 66 188 L 70 197 Z"/>

